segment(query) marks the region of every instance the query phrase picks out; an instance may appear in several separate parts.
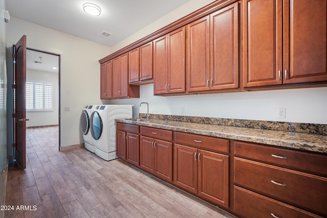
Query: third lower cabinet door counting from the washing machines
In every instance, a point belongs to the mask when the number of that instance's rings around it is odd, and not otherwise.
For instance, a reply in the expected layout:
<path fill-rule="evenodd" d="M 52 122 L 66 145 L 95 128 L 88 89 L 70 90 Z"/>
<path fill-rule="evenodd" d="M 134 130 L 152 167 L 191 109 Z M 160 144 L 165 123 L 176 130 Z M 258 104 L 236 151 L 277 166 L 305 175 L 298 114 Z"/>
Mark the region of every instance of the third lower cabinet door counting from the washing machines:
<path fill-rule="evenodd" d="M 154 139 L 141 136 L 139 167 L 149 173 L 154 172 Z"/>

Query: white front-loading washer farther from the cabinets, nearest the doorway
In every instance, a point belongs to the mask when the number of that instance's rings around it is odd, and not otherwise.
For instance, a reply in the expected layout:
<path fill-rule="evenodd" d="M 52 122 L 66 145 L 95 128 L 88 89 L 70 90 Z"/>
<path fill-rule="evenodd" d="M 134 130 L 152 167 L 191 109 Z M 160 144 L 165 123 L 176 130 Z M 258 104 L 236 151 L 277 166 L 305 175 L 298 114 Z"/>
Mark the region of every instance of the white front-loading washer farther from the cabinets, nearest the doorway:
<path fill-rule="evenodd" d="M 84 147 L 94 153 L 94 139 L 90 131 L 90 116 L 94 110 L 94 105 L 87 105 L 83 107 L 81 116 L 80 116 L 80 129 L 83 134 Z"/>

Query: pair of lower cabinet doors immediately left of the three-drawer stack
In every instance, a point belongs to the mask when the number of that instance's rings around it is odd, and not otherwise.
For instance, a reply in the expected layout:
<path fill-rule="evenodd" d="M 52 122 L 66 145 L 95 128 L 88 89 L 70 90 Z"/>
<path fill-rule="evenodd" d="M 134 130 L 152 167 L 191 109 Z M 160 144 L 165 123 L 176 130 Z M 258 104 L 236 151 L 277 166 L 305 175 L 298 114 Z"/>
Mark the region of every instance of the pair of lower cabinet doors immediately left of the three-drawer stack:
<path fill-rule="evenodd" d="M 226 208 L 228 171 L 228 155 L 174 144 L 174 184 Z"/>

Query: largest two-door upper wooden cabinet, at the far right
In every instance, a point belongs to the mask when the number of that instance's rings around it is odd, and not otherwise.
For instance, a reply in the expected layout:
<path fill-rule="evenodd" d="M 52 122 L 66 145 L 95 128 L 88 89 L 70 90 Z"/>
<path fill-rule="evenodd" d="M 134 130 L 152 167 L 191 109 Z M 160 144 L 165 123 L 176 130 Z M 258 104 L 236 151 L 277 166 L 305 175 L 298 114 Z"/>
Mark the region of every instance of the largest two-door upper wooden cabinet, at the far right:
<path fill-rule="evenodd" d="M 326 5 L 243 1 L 244 87 L 327 81 Z"/>

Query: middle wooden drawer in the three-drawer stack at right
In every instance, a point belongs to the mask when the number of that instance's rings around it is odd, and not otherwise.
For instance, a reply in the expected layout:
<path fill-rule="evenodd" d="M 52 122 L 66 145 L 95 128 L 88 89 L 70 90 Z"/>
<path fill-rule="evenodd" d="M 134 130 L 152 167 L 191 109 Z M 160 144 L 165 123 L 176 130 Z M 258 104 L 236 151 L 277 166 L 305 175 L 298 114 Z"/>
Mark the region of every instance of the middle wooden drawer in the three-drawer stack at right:
<path fill-rule="evenodd" d="M 327 215 L 327 178 L 238 157 L 234 160 L 236 185 Z"/>

